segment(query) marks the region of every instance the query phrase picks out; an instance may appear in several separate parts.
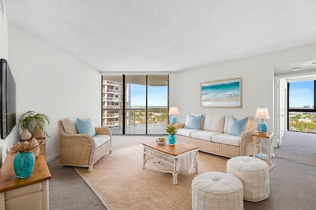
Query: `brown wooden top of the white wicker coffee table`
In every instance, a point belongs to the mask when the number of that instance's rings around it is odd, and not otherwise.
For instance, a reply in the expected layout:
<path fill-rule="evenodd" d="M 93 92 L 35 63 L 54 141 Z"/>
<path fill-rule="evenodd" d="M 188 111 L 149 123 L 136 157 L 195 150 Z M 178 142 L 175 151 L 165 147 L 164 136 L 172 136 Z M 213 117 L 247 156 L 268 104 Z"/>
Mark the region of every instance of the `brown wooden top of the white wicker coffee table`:
<path fill-rule="evenodd" d="M 177 142 L 173 146 L 169 146 L 168 143 L 164 145 L 158 145 L 156 142 L 143 142 L 142 144 L 147 147 L 153 148 L 155 150 L 162 151 L 167 154 L 171 154 L 173 156 L 182 154 L 187 151 L 195 150 L 198 148 L 197 146 L 194 146 L 194 145 L 188 145 L 188 144 L 183 144 L 179 142 Z"/>

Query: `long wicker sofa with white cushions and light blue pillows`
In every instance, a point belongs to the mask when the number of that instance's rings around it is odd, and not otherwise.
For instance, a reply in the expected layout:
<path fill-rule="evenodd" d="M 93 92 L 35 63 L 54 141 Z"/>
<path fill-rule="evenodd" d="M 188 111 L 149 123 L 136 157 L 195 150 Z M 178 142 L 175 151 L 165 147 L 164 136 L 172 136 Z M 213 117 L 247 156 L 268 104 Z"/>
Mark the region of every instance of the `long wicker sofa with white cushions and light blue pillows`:
<path fill-rule="evenodd" d="M 254 150 L 253 117 L 188 114 L 186 123 L 176 123 L 176 142 L 198 146 L 198 150 L 225 157 L 250 156 Z M 191 120 L 190 120 L 191 119 Z M 186 126 L 189 124 L 189 126 Z M 193 125 L 194 124 L 194 125 Z"/>

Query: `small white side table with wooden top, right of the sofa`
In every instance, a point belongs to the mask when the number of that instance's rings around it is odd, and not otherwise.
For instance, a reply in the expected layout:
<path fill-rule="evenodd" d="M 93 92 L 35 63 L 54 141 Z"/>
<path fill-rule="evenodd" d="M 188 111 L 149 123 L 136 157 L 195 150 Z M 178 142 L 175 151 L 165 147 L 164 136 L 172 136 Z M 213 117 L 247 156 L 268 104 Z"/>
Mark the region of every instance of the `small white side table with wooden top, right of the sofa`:
<path fill-rule="evenodd" d="M 259 133 L 252 134 L 252 137 L 254 139 L 254 151 L 252 156 L 262 159 L 268 164 L 272 164 L 272 157 L 275 156 L 275 154 L 271 154 L 271 148 L 273 145 L 273 134 L 268 133 L 267 135 L 259 135 Z M 268 154 L 262 154 L 261 148 L 266 148 L 268 150 Z"/>

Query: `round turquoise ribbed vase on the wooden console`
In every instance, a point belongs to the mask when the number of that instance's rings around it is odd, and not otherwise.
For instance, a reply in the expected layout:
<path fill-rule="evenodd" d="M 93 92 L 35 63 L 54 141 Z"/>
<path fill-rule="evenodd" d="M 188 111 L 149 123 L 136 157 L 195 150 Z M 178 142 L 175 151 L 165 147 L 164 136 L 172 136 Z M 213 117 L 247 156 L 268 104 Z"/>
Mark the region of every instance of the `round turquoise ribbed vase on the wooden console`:
<path fill-rule="evenodd" d="M 30 177 L 35 164 L 35 155 L 32 151 L 20 152 L 14 157 L 14 172 L 18 178 Z"/>

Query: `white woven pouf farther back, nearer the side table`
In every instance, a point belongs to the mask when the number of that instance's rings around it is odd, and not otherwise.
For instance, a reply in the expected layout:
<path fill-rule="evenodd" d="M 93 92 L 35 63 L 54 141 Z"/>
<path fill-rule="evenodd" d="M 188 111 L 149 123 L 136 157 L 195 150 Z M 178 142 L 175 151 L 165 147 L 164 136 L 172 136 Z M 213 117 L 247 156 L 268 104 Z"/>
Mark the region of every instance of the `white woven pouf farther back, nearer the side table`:
<path fill-rule="evenodd" d="M 269 166 L 255 157 L 239 156 L 227 161 L 227 173 L 236 176 L 243 185 L 243 199 L 258 202 L 269 197 Z"/>

